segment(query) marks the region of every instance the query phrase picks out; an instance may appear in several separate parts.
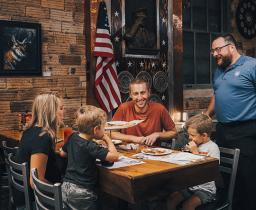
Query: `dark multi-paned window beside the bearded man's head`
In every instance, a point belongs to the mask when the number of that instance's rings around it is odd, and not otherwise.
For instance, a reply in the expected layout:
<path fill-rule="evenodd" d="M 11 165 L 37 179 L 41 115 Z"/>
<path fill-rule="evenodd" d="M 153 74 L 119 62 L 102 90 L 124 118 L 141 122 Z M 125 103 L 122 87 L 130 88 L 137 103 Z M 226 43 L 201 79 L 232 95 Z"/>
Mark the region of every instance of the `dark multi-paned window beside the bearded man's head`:
<path fill-rule="evenodd" d="M 183 0 L 183 84 L 209 85 L 216 68 L 211 42 L 230 32 L 230 0 Z"/>

